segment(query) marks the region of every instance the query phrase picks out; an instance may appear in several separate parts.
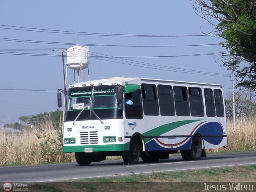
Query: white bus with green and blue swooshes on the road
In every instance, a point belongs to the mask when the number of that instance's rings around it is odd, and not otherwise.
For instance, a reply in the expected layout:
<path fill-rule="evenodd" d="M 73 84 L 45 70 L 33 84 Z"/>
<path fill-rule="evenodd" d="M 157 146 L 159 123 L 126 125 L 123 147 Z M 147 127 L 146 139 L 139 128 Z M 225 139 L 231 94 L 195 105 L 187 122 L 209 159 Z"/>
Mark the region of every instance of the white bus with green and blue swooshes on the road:
<path fill-rule="evenodd" d="M 156 162 L 178 152 L 199 160 L 227 144 L 222 86 L 127 77 L 73 84 L 63 135 L 63 152 L 79 165 L 106 156 Z"/>

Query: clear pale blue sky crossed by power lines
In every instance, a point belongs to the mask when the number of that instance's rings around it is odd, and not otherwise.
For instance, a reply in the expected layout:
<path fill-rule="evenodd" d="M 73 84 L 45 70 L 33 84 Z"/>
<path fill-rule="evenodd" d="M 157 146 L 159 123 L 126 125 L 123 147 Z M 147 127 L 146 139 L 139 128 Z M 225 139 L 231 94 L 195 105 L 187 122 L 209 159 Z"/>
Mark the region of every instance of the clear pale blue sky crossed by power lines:
<path fill-rule="evenodd" d="M 232 91 L 231 72 L 216 63 L 223 39 L 196 36 L 214 27 L 190 0 L 8 0 L 0 18 L 0 126 L 57 109 L 56 90 L 64 87 L 60 51 L 76 44 L 90 44 L 90 80 L 158 78 Z M 132 58 L 92 57 L 100 54 Z"/>

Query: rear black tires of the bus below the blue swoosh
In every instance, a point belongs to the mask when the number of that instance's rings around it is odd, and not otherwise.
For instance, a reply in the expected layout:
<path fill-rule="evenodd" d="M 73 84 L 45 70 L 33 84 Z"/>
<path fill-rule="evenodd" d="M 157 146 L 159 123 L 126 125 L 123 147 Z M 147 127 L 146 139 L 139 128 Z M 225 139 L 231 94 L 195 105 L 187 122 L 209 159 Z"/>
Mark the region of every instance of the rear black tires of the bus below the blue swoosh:
<path fill-rule="evenodd" d="M 202 140 L 198 135 L 192 138 L 190 150 L 180 150 L 183 160 L 199 160 L 202 156 L 203 145 Z"/>

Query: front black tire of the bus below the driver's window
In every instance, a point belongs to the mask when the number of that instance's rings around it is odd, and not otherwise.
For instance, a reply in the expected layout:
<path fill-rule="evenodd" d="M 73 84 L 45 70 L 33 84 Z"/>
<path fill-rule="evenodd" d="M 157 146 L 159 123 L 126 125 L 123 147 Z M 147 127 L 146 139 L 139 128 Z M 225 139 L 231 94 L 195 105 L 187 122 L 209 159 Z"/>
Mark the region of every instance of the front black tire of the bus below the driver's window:
<path fill-rule="evenodd" d="M 122 154 L 125 164 L 136 164 L 140 158 L 140 143 L 136 138 L 130 140 L 130 150 Z"/>

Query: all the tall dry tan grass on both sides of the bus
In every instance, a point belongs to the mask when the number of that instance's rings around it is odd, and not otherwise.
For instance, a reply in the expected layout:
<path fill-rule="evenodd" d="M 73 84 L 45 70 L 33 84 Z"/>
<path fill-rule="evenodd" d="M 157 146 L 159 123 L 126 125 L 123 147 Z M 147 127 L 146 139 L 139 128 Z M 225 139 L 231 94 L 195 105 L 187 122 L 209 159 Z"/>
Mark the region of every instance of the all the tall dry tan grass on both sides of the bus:
<path fill-rule="evenodd" d="M 228 121 L 227 125 L 228 146 L 209 151 L 256 150 L 256 118 L 236 120 L 235 126 Z M 0 166 L 74 162 L 73 154 L 62 153 L 62 131 L 50 122 L 19 134 L 0 134 Z"/>

